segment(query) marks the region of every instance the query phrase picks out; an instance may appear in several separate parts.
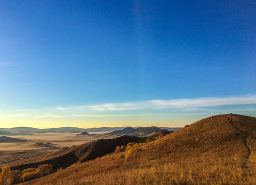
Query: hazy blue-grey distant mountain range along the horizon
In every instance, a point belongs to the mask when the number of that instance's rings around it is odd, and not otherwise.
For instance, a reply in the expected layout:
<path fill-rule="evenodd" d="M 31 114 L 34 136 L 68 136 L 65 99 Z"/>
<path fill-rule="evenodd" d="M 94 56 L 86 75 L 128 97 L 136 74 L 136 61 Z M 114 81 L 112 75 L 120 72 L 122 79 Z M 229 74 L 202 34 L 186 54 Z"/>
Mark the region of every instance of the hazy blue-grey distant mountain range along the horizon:
<path fill-rule="evenodd" d="M 78 128 L 78 127 L 59 127 L 59 128 L 32 128 L 32 127 L 13 127 L 13 128 L 0 128 L 0 135 L 24 135 L 24 134 L 33 134 L 33 133 L 110 133 L 114 131 L 120 131 L 126 126 L 123 127 L 100 127 L 100 128 Z M 137 129 L 136 127 L 128 127 Z M 181 127 L 159 127 L 162 130 L 178 130 Z"/>

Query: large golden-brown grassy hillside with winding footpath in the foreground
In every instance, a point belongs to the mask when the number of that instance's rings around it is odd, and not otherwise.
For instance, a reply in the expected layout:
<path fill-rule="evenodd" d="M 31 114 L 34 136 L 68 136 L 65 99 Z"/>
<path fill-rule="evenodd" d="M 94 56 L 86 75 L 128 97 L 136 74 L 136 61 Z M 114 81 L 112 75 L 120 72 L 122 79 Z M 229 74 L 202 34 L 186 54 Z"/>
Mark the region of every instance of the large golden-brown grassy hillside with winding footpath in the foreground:
<path fill-rule="evenodd" d="M 232 118 L 232 122 L 228 118 Z M 25 184 L 254 184 L 256 118 L 218 115 Z"/>

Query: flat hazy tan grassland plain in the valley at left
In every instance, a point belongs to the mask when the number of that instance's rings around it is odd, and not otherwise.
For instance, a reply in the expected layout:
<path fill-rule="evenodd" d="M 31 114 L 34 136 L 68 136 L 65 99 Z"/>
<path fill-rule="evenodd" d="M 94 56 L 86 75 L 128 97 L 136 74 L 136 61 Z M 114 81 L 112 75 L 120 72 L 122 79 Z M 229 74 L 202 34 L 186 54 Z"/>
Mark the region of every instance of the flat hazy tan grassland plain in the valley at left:
<path fill-rule="evenodd" d="M 10 160 L 10 162 L 7 163 L 0 163 L 0 168 L 5 165 L 15 166 L 25 164 L 30 161 L 37 161 L 40 156 L 62 150 L 63 147 L 80 145 L 99 138 L 114 138 L 117 136 L 105 136 L 102 134 L 76 136 L 76 133 L 43 133 L 33 135 L 15 135 L 9 137 L 26 140 L 26 142 L 0 141 L 0 162 Z M 31 156 L 33 156 L 33 158 L 29 158 Z"/>

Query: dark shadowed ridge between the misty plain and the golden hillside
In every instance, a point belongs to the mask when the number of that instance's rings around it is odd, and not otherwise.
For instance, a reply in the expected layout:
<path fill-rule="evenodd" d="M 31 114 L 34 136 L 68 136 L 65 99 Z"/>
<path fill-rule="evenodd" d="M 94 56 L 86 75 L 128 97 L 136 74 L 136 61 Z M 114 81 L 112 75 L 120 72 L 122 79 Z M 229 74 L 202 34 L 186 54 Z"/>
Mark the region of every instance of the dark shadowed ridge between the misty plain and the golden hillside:
<path fill-rule="evenodd" d="M 31 158 L 31 162 L 11 167 L 12 170 L 24 170 L 27 168 L 37 168 L 41 164 L 52 164 L 53 170 L 59 168 L 65 169 L 77 162 L 102 157 L 106 154 L 113 153 L 117 146 L 126 145 L 129 142 L 145 142 L 146 138 L 121 136 L 114 139 L 99 139 L 87 142 L 82 145 L 72 146 L 68 149 L 55 153 L 46 154 L 37 158 Z M 43 143 L 36 143 L 43 144 Z M 47 144 L 49 145 L 49 144 Z M 51 145 L 51 143 L 50 143 Z"/>

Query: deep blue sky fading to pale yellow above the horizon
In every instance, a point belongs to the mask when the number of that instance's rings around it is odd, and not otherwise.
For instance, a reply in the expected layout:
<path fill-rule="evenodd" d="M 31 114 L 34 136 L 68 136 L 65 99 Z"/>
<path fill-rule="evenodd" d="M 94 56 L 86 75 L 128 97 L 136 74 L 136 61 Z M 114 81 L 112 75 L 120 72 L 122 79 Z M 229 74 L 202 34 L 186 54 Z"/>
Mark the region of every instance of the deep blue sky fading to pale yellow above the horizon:
<path fill-rule="evenodd" d="M 0 1 L 0 127 L 256 116 L 255 1 Z"/>

